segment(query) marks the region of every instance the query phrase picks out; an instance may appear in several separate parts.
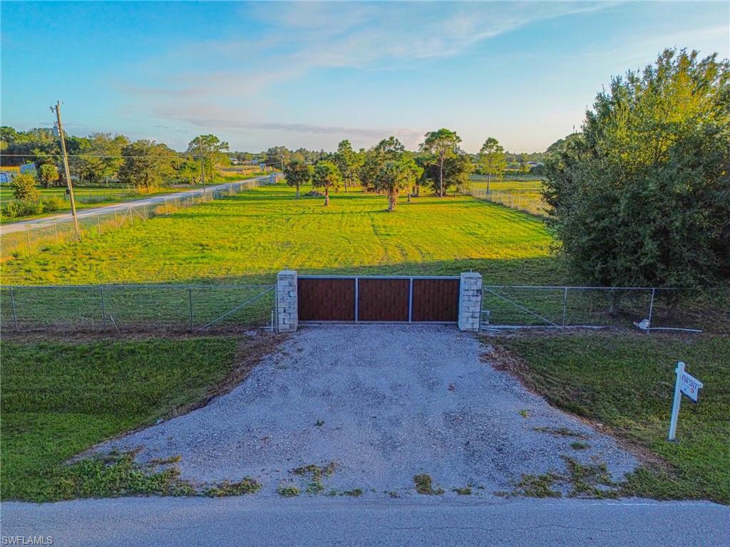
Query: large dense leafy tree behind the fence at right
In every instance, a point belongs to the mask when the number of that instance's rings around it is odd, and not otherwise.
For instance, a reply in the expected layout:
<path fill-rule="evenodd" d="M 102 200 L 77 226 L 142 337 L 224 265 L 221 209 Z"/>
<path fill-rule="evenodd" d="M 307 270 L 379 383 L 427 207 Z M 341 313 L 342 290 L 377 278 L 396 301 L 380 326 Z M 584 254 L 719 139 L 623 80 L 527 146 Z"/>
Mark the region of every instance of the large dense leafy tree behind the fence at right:
<path fill-rule="evenodd" d="M 583 131 L 553 147 L 549 224 L 587 282 L 728 282 L 729 66 L 665 50 L 643 71 L 613 78 Z"/>

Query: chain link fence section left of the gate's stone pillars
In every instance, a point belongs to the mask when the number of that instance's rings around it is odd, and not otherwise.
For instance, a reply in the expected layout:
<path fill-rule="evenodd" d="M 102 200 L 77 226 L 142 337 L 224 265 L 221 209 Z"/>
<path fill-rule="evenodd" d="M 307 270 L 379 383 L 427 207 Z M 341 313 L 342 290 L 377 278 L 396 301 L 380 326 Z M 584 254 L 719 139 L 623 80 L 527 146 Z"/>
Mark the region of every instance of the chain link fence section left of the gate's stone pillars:
<path fill-rule="evenodd" d="M 0 287 L 1 330 L 235 333 L 273 328 L 274 285 Z"/>

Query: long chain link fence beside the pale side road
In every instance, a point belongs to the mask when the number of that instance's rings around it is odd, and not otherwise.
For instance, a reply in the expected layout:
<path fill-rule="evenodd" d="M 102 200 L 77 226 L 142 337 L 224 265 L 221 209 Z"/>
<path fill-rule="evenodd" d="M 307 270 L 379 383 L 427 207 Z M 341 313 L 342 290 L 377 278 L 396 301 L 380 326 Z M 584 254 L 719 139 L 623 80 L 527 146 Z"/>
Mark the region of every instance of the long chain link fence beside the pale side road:
<path fill-rule="evenodd" d="M 182 195 L 159 196 L 150 198 L 149 203 L 131 202 L 126 206 L 109 206 L 104 212 L 78 211 L 79 231 L 82 238 L 91 238 L 110 230 L 118 230 L 139 224 L 153 217 L 163 214 L 172 214 L 180 209 L 187 209 L 199 203 L 207 203 L 228 195 L 241 193 L 253 187 L 269 185 L 276 181 L 277 176 L 267 176 L 263 179 L 249 179 L 216 187 L 213 190 L 196 190 Z M 61 244 L 68 241 L 77 241 L 73 218 L 64 217 L 63 220 L 50 220 L 23 225 L 21 229 L 7 226 L 0 234 L 0 259 L 18 257 L 23 254 L 32 254 L 44 249 L 48 245 Z"/>

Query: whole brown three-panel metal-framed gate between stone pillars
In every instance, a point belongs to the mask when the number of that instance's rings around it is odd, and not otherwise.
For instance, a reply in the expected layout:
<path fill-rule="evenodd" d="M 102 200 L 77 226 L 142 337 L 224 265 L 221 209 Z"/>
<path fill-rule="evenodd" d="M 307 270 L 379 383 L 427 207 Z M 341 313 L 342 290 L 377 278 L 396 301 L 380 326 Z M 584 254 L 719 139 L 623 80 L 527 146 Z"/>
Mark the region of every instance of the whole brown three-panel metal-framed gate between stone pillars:
<path fill-rule="evenodd" d="M 299 276 L 299 322 L 456 323 L 456 276 Z"/>

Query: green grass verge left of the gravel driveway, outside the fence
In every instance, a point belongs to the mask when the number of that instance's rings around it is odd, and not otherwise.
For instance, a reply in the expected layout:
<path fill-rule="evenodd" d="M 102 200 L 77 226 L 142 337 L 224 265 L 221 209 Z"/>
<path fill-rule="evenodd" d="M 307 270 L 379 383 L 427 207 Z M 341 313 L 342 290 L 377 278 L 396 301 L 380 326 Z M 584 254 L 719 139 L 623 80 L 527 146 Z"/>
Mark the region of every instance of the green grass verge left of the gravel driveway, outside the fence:
<path fill-rule="evenodd" d="M 169 476 L 66 465 L 80 451 L 201 399 L 234 362 L 234 338 L 0 344 L 4 500 L 160 492 Z M 134 479 L 134 480 L 132 480 Z"/>

